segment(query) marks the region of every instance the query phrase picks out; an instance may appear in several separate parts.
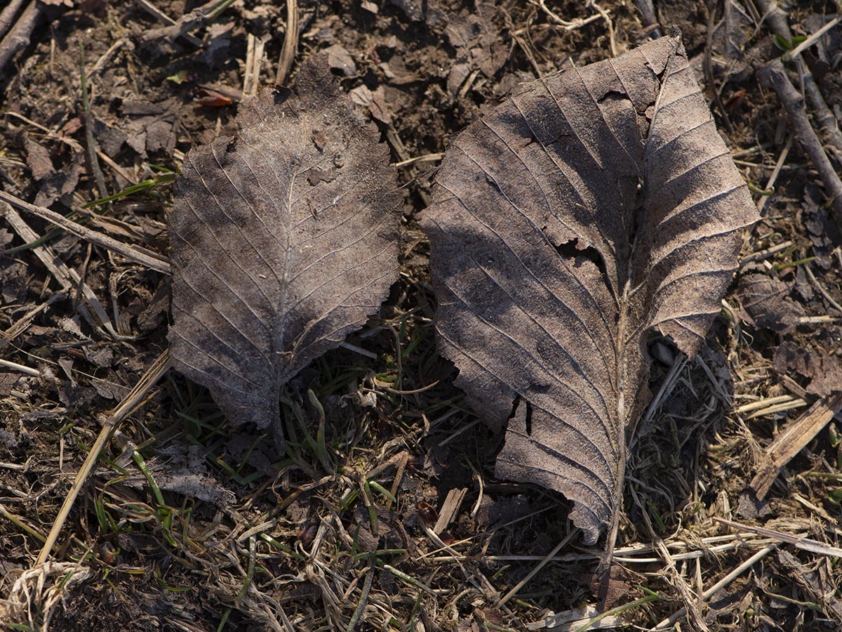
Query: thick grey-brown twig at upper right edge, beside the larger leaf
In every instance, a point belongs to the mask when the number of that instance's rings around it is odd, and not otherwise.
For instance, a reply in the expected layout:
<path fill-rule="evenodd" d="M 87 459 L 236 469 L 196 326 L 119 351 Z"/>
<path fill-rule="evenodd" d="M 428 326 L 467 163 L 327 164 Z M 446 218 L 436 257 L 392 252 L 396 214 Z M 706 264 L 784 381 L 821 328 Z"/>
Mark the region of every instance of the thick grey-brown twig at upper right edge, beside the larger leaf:
<path fill-rule="evenodd" d="M 830 163 L 827 154 L 824 153 L 822 142 L 818 135 L 810 126 L 810 121 L 807 119 L 807 112 L 804 110 L 804 99 L 801 94 L 795 89 L 786 76 L 786 71 L 780 59 L 767 64 L 759 72 L 760 83 L 763 83 L 767 88 L 775 90 L 778 99 L 781 99 L 786 109 L 786 115 L 792 124 L 793 136 L 797 137 L 798 142 L 801 143 L 802 148 L 810 159 L 813 161 L 818 170 L 818 176 L 822 179 L 828 194 L 832 198 L 830 206 L 834 211 L 834 217 L 839 226 L 842 226 L 842 180 L 839 179 L 839 174 Z"/>

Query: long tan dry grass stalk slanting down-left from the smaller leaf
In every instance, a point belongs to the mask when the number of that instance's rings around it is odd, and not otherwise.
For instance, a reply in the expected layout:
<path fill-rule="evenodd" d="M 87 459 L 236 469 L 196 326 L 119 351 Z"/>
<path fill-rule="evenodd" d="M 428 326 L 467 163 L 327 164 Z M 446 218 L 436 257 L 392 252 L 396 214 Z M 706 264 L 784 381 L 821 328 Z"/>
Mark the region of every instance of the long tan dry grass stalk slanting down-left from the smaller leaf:
<path fill-rule="evenodd" d="M 36 566 L 44 564 L 47 557 L 50 555 L 53 546 L 56 544 L 58 535 L 61 533 L 61 527 L 64 525 L 65 520 L 67 520 L 67 514 L 70 513 L 73 503 L 76 502 L 79 491 L 82 490 L 82 486 L 88 479 L 88 475 L 90 475 L 93 471 L 93 466 L 99 458 L 99 452 L 105 446 L 105 442 L 108 441 L 111 436 L 111 432 L 115 430 L 115 428 L 120 424 L 120 421 L 122 421 L 126 415 L 130 415 L 131 412 L 143 402 L 149 392 L 149 389 L 152 388 L 152 386 L 163 376 L 163 374 L 168 371 L 169 366 L 169 351 L 163 351 L 163 353 L 157 357 L 155 362 L 152 362 L 152 366 L 147 369 L 147 372 L 143 375 L 140 382 L 137 383 L 136 387 L 132 389 L 131 393 L 125 396 L 125 399 L 120 402 L 120 405 L 118 405 L 115 410 L 112 411 L 111 415 L 109 415 L 109 418 L 105 420 L 103 429 L 99 432 L 99 437 L 97 437 L 97 440 L 93 442 L 93 446 L 91 446 L 88 458 L 85 459 L 82 464 L 82 468 L 79 469 L 79 472 L 76 475 L 76 480 L 73 481 L 72 487 L 67 492 L 67 497 L 61 505 L 61 510 L 58 512 L 58 516 L 56 516 L 56 522 L 53 522 L 50 533 L 47 535 L 44 548 L 41 549 L 40 554 L 38 554 L 38 559 L 35 560 Z"/>

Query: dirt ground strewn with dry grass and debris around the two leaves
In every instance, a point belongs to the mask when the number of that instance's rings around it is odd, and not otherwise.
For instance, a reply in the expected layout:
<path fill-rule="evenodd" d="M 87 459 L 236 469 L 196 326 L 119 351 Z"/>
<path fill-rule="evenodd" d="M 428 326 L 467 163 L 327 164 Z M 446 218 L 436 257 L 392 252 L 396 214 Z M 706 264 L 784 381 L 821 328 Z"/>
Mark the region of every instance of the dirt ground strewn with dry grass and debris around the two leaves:
<path fill-rule="evenodd" d="M 653 4 L 658 24 L 632 0 L 299 0 L 290 32 L 285 3 L 237 0 L 179 35 L 155 10 L 179 20 L 199 3 L 38 3 L 29 43 L 0 74 L 3 190 L 165 257 L 172 172 L 191 147 L 234 131 L 237 104 L 274 84 L 287 40 L 287 80 L 326 52 L 391 147 L 402 269 L 352 346 L 285 387 L 285 454 L 264 432 L 227 425 L 176 372 L 142 388 L 51 562 L 36 565 L 111 411 L 167 348 L 169 283 L 0 202 L 0 621 L 585 629 L 603 612 L 600 551 L 583 546 L 562 496 L 494 478 L 502 437 L 472 416 L 436 353 L 417 217 L 449 138 L 484 107 L 674 24 L 762 220 L 706 349 L 686 361 L 663 345 L 653 362 L 660 397 L 626 476 L 613 609 L 592 625 L 842 629 L 842 239 L 802 138 L 757 75 L 783 56 L 796 88 L 818 89 L 825 110 L 807 94 L 805 111 L 839 170 L 838 24 L 800 61 L 791 51 L 839 9 Z M 579 623 L 563 627 L 565 613 Z"/>

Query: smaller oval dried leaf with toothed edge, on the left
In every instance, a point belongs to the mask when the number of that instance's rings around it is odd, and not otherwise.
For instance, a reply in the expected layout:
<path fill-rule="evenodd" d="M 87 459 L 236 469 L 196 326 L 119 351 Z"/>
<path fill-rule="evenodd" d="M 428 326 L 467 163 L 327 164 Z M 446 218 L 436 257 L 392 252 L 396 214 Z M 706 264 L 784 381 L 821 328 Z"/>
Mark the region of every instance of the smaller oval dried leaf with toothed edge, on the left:
<path fill-rule="evenodd" d="M 169 340 L 174 367 L 230 420 L 263 427 L 280 386 L 365 324 L 396 280 L 401 195 L 388 149 L 323 60 L 291 92 L 243 105 L 237 124 L 191 150 L 176 180 Z"/>

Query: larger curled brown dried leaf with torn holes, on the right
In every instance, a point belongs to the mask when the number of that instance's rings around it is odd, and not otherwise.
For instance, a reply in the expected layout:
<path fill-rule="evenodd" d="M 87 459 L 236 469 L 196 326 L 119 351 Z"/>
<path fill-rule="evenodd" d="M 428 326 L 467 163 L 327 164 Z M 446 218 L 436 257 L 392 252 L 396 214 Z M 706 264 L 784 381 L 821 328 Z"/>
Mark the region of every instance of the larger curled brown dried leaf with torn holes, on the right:
<path fill-rule="evenodd" d="M 446 153 L 440 349 L 508 421 L 498 476 L 567 495 L 589 543 L 616 528 L 647 334 L 698 351 L 755 215 L 678 36 L 526 83 Z"/>

